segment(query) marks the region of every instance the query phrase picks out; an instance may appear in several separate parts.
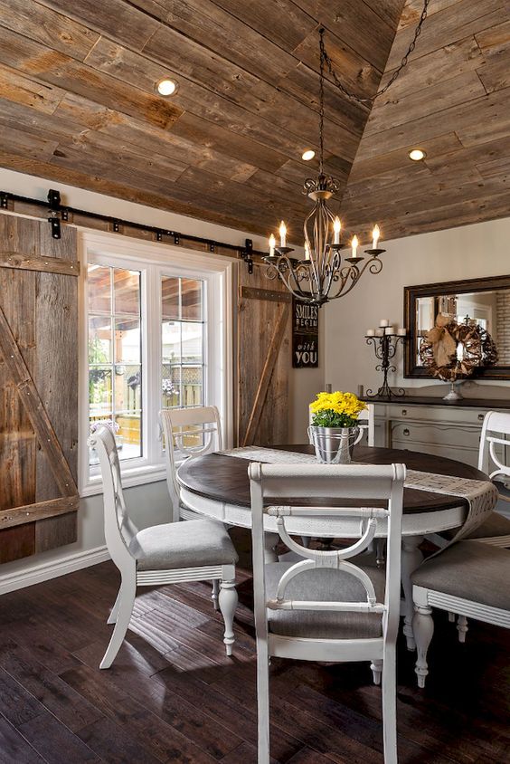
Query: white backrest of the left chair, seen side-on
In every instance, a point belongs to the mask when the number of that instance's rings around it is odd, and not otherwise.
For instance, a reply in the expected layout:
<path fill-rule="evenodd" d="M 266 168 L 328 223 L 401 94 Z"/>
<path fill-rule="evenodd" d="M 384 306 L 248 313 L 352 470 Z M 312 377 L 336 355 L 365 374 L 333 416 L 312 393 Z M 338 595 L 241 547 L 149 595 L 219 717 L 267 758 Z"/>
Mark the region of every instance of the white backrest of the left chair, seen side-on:
<path fill-rule="evenodd" d="M 112 559 L 120 567 L 127 557 L 131 558 L 129 543 L 137 535 L 138 529 L 127 513 L 115 435 L 109 426 L 101 425 L 90 435 L 88 444 L 99 457 L 107 547 Z"/>

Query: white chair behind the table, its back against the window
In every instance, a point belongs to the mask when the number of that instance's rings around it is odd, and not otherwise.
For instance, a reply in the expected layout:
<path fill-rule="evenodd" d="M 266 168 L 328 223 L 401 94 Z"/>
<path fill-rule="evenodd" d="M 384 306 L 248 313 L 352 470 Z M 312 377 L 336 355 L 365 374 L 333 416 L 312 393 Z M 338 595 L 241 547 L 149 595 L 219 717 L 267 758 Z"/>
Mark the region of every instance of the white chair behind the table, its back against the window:
<path fill-rule="evenodd" d="M 222 423 L 216 406 L 197 408 L 165 408 L 159 412 L 159 418 L 165 435 L 166 482 L 174 520 L 194 519 L 196 514 L 187 510 L 180 501 L 179 486 L 176 479 L 175 450 L 179 456 L 193 459 L 196 456 L 221 451 L 223 447 Z M 196 445 L 185 444 L 185 440 L 198 438 Z"/>

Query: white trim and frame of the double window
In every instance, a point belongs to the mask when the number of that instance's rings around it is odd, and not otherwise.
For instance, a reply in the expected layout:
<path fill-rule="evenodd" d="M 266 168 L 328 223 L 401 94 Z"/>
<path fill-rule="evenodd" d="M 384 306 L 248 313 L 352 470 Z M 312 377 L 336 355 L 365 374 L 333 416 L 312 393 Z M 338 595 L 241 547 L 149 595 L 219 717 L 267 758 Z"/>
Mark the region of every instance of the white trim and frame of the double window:
<path fill-rule="evenodd" d="M 207 315 L 208 331 L 204 349 L 204 361 L 208 368 L 206 403 L 218 406 L 222 419 L 223 441 L 226 447 L 233 442 L 232 418 L 232 271 L 233 260 L 221 255 L 196 253 L 194 250 L 171 244 L 140 242 L 119 237 L 118 234 L 97 234 L 79 230 L 80 256 L 80 365 L 79 365 L 79 490 L 80 496 L 92 496 L 102 492 L 99 475 L 89 475 L 89 358 L 88 358 L 88 310 L 87 271 L 89 263 L 108 257 L 108 263 L 131 270 L 153 266 L 157 274 L 200 278 L 208 283 Z M 156 267 L 155 267 L 156 266 Z M 161 342 L 158 332 L 149 332 L 149 326 L 161 325 L 161 301 L 156 278 L 146 279 L 142 274 L 142 294 L 146 304 L 146 320 L 143 321 L 142 363 L 152 358 L 153 368 L 161 368 Z M 156 293 L 155 293 L 156 292 Z M 219 330 L 213 331 L 213 328 Z M 213 373 L 211 370 L 213 369 Z M 161 407 L 158 378 L 152 375 L 142 392 L 142 429 L 146 434 L 147 453 L 132 460 L 132 466 L 122 465 L 124 487 L 165 480 L 163 449 L 159 446 L 158 412 Z M 152 385 L 152 388 L 149 386 Z M 131 461 L 131 460 L 130 460 Z"/>

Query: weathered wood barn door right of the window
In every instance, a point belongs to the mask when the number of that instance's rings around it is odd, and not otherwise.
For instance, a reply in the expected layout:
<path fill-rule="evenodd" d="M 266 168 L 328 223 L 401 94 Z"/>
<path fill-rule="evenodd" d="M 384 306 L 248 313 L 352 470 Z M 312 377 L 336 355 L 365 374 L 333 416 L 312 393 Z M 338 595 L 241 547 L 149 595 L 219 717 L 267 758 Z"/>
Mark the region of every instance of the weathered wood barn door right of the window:
<path fill-rule="evenodd" d="M 237 326 L 239 445 L 288 443 L 291 297 L 265 268 L 240 263 Z"/>

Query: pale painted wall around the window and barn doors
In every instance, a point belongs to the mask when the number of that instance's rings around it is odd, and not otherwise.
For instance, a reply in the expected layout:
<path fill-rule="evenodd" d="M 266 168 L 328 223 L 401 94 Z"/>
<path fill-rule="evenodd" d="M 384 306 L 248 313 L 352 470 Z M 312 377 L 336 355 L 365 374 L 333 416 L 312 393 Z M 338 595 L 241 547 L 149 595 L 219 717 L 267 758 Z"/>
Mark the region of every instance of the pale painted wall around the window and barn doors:
<path fill-rule="evenodd" d="M 264 250 L 267 241 L 261 236 L 234 230 L 222 225 L 207 223 L 185 215 L 175 215 L 164 210 L 145 205 L 115 199 L 74 186 L 66 186 L 39 177 L 27 176 L 13 170 L 0 168 L 0 190 L 18 196 L 28 196 L 46 200 L 48 190 L 57 188 L 61 192 L 63 205 L 78 209 L 100 212 L 126 220 L 161 228 L 174 229 L 186 234 L 211 237 L 215 241 L 242 246 L 246 238 L 253 241 L 255 249 Z M 324 319 L 324 316 L 321 318 Z M 324 320 L 323 320 L 324 331 Z M 322 354 L 324 358 L 324 353 Z M 290 363 L 290 354 L 289 354 Z M 324 363 L 324 362 L 323 362 Z M 306 437 L 307 406 L 316 391 L 324 385 L 323 368 L 296 369 L 291 372 L 289 385 L 289 435 L 292 443 L 303 442 Z M 126 491 L 129 509 L 134 512 L 139 527 L 146 527 L 157 522 L 165 522 L 168 515 L 168 494 L 165 482 L 156 482 Z M 34 583 L 37 577 L 50 578 L 59 564 L 71 557 L 85 564 L 88 556 L 99 561 L 104 545 L 102 496 L 92 496 L 80 501 L 78 540 L 74 544 L 59 549 L 52 549 L 39 555 L 7 563 L 0 568 L 0 593 L 20 585 L 20 574 L 31 576 Z M 104 555 L 103 555 L 104 556 Z M 72 562 L 69 563 L 73 564 Z"/>

